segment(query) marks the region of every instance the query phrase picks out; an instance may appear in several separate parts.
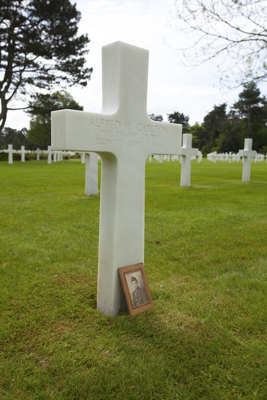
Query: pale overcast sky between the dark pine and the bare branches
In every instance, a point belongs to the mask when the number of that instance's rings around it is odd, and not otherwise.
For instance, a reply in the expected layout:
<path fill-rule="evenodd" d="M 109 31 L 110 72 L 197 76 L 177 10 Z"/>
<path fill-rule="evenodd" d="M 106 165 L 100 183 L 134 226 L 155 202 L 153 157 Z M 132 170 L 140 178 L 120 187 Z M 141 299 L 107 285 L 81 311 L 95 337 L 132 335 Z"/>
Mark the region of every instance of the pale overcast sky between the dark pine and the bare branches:
<path fill-rule="evenodd" d="M 101 111 L 101 48 L 116 41 L 149 50 L 148 114 L 162 114 L 166 121 L 166 114 L 179 111 L 188 115 L 189 124 L 194 125 L 202 123 L 214 105 L 227 103 L 231 106 L 237 101 L 242 89 L 224 93 L 212 64 L 193 70 L 179 65 L 181 54 L 175 46 L 180 33 L 170 27 L 175 15 L 174 0 L 75 2 L 82 14 L 79 34 L 88 33 L 91 40 L 87 66 L 93 68 L 93 73 L 86 88 L 69 88 L 68 91 L 84 106 L 84 111 Z M 23 111 L 10 111 L 6 127 L 28 128 L 29 117 Z"/>

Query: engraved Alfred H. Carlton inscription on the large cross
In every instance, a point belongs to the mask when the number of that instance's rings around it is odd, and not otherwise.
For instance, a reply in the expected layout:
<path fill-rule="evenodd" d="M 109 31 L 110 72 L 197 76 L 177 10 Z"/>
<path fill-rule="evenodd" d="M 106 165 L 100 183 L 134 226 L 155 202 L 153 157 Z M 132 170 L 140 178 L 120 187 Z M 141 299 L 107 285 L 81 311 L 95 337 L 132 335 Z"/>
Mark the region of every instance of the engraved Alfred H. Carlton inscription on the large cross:
<path fill-rule="evenodd" d="M 133 124 L 116 119 L 91 118 L 90 128 L 96 129 L 96 143 L 111 147 L 163 147 L 163 136 L 168 134 L 168 127 L 158 124 Z"/>

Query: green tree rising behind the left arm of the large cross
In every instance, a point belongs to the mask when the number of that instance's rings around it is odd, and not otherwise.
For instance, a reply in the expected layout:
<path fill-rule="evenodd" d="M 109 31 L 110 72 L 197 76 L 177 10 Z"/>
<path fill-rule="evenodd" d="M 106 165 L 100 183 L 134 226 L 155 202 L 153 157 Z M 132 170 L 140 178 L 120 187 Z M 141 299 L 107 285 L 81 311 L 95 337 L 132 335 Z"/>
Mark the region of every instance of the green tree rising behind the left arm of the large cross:
<path fill-rule="evenodd" d="M 67 92 L 37 94 L 27 111 L 32 115 L 27 137 L 31 148 L 46 149 L 51 143 L 51 111 L 65 108 L 83 110 Z"/>

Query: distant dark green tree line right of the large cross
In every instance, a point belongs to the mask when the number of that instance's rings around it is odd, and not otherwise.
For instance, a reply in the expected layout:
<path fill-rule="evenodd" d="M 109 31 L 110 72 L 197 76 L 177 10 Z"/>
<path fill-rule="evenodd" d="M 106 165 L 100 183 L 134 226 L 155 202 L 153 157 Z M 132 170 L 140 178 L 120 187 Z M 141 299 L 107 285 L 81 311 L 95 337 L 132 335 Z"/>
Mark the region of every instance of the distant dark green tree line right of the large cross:
<path fill-rule="evenodd" d="M 267 101 L 261 96 L 255 83 L 243 86 L 239 99 L 226 111 L 226 103 L 214 106 L 203 119 L 202 124 L 190 126 L 189 117 L 179 112 L 167 114 L 168 122 L 182 124 L 183 133 L 193 135 L 193 146 L 203 155 L 217 151 L 238 152 L 243 148 L 244 138 L 253 139 L 253 149 L 267 153 Z M 150 115 L 156 121 L 163 121 L 161 115 Z"/>

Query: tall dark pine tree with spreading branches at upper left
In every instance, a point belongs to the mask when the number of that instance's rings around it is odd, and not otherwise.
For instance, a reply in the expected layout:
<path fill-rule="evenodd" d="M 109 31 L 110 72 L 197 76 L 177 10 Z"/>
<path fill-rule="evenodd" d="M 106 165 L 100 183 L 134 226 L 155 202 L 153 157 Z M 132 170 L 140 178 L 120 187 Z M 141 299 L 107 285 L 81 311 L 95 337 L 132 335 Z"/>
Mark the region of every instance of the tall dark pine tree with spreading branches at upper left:
<path fill-rule="evenodd" d="M 87 35 L 77 36 L 81 13 L 69 0 L 1 0 L 0 133 L 8 104 L 33 87 L 86 86 Z"/>

